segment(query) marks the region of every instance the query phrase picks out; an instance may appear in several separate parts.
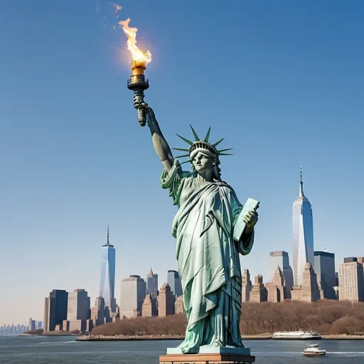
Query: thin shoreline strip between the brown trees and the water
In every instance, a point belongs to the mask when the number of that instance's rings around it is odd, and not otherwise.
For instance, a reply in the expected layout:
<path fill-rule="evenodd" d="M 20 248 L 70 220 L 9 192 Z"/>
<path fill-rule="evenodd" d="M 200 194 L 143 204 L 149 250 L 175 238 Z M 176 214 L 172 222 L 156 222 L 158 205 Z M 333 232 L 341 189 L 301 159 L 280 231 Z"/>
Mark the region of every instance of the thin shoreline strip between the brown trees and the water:
<path fill-rule="evenodd" d="M 77 336 L 76 341 L 154 341 L 154 340 L 184 340 L 184 336 L 154 336 L 154 335 L 141 335 L 141 336 Z M 320 339 L 301 339 L 301 338 L 273 338 L 272 335 L 242 335 L 242 340 L 364 340 L 364 336 L 358 335 L 345 335 L 345 334 L 335 334 L 335 335 L 321 335 Z"/>

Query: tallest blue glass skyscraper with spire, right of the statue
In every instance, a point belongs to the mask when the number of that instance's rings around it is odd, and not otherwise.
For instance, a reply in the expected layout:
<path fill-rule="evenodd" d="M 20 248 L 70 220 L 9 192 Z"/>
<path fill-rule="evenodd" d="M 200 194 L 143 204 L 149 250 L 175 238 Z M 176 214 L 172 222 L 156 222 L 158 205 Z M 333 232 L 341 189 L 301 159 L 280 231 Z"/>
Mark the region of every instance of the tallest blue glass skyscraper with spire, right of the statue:
<path fill-rule="evenodd" d="M 311 203 L 304 196 L 302 170 L 299 196 L 292 207 L 292 228 L 294 284 L 301 285 L 306 263 L 310 262 L 314 266 L 314 221 Z"/>

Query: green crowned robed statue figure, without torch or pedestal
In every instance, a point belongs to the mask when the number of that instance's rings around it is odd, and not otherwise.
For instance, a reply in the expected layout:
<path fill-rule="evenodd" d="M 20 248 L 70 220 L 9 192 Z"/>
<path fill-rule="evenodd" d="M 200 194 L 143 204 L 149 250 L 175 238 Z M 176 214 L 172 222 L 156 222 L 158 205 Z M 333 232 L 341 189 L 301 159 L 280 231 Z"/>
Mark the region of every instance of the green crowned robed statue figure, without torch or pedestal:
<path fill-rule="evenodd" d="M 178 135 L 188 148 L 175 148 L 186 151 L 183 157 L 191 163 L 191 171 L 183 171 L 178 161 L 182 156 L 173 158 L 151 107 L 139 102 L 134 106 L 146 111 L 154 149 L 164 165 L 161 186 L 178 206 L 172 235 L 188 319 L 178 348 L 182 353 L 198 353 L 201 346 L 244 348 L 239 253 L 252 250 L 258 218 L 255 208 L 241 216 L 243 206 L 235 191 L 221 180 L 220 156 L 230 149 L 216 148 L 223 139 L 210 143 L 210 129 L 200 139 L 191 127 L 195 141 Z M 244 230 L 236 238 L 237 225 Z"/>

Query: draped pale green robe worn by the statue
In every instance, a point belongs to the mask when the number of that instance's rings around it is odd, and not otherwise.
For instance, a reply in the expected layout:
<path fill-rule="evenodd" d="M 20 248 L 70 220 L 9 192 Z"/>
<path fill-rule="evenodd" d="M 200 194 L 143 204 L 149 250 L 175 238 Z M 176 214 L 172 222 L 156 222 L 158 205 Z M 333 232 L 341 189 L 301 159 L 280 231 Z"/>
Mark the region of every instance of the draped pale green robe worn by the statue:
<path fill-rule="evenodd" d="M 173 220 L 176 257 L 188 326 L 180 348 L 242 345 L 240 314 L 242 273 L 239 253 L 252 250 L 254 232 L 232 237 L 242 205 L 224 182 L 208 182 L 197 172 L 182 171 L 175 160 L 161 175 L 178 213 Z"/>

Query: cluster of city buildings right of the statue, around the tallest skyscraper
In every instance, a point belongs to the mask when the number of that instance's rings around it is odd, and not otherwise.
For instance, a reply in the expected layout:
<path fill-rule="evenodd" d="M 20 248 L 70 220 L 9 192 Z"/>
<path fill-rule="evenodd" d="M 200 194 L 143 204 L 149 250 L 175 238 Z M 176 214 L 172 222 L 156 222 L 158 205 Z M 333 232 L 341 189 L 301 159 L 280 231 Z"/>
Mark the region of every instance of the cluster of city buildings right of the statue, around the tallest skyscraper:
<path fill-rule="evenodd" d="M 293 269 L 284 251 L 270 252 L 270 279 L 262 275 L 250 281 L 248 269 L 242 276 L 242 301 L 282 302 L 284 299 L 315 302 L 319 299 L 364 301 L 364 257 L 347 257 L 335 272 L 335 255 L 314 251 L 314 223 L 311 203 L 304 195 L 301 181 L 299 196 L 292 208 Z"/>

